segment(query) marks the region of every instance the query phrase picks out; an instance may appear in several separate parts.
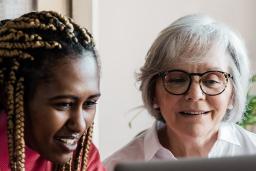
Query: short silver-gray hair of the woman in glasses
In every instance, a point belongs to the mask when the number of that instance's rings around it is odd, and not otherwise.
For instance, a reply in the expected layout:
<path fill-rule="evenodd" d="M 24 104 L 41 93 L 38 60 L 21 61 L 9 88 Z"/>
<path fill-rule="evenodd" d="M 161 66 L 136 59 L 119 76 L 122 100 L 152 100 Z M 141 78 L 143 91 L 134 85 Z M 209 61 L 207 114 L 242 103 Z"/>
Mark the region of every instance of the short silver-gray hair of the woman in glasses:
<path fill-rule="evenodd" d="M 151 115 L 156 119 L 161 118 L 159 110 L 153 107 L 158 73 L 168 69 L 175 58 L 200 62 L 214 46 L 223 48 L 229 54 L 229 72 L 233 75 L 234 107 L 227 109 L 223 120 L 241 121 L 250 78 L 246 48 L 242 39 L 227 26 L 200 14 L 184 16 L 173 22 L 160 32 L 147 53 L 138 81 L 141 82 L 144 106 Z"/>

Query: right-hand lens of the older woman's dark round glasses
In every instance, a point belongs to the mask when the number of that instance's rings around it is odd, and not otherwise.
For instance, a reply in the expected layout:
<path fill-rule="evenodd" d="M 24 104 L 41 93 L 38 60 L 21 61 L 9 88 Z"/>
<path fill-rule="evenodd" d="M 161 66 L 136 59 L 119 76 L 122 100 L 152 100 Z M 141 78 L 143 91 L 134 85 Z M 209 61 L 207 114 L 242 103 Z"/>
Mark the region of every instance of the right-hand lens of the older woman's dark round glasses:
<path fill-rule="evenodd" d="M 217 95 L 225 90 L 227 78 L 222 72 L 208 72 L 201 77 L 200 85 L 205 94 Z"/>

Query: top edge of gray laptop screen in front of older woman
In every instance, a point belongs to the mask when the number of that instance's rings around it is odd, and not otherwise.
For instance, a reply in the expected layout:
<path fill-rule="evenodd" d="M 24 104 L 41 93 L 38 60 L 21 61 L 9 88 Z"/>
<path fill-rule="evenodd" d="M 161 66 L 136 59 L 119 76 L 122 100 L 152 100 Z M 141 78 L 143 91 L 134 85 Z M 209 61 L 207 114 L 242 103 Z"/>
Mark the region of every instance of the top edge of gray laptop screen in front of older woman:
<path fill-rule="evenodd" d="M 256 171 L 256 155 L 120 163 L 114 171 Z"/>

